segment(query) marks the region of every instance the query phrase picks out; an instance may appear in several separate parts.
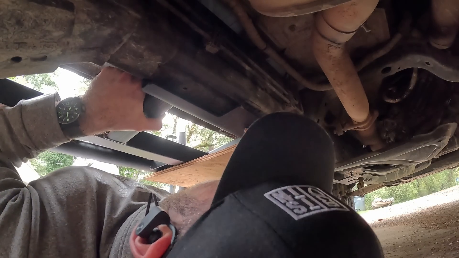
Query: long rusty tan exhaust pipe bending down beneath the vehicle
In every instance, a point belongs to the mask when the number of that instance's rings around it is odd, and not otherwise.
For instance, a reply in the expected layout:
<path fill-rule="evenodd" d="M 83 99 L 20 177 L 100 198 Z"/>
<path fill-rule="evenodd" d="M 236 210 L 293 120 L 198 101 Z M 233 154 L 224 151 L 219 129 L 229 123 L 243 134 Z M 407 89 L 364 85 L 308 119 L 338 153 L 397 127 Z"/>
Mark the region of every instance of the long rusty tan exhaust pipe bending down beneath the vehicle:
<path fill-rule="evenodd" d="M 384 146 L 370 113 L 367 96 L 345 43 L 375 10 L 379 0 L 352 0 L 321 11 L 313 29 L 313 52 L 344 109 L 358 125 L 360 141 L 373 151 Z"/>

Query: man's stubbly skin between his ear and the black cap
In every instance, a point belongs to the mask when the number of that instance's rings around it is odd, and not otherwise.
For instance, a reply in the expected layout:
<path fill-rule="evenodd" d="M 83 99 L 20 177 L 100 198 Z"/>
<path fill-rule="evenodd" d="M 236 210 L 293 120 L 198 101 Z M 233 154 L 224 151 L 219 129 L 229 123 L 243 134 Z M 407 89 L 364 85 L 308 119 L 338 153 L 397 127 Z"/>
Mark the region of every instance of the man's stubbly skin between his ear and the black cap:
<path fill-rule="evenodd" d="M 204 182 L 170 195 L 160 202 L 159 206 L 169 214 L 180 236 L 209 210 L 217 186 L 218 180 Z"/>

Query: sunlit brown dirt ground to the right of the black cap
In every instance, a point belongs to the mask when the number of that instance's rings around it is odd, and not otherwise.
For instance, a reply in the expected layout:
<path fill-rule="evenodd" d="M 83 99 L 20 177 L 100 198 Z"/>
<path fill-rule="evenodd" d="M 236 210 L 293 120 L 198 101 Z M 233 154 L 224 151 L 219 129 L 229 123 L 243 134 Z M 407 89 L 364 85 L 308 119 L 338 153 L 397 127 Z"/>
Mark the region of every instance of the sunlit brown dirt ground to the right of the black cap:
<path fill-rule="evenodd" d="M 361 215 L 386 258 L 459 258 L 459 185 Z"/>

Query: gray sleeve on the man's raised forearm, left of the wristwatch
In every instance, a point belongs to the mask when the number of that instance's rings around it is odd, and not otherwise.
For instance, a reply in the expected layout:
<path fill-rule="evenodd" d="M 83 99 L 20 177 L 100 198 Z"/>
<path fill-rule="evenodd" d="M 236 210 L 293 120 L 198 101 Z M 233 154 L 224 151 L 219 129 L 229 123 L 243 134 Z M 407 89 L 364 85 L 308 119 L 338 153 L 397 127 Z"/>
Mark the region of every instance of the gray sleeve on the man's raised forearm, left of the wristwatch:
<path fill-rule="evenodd" d="M 59 95 L 43 95 L 0 107 L 0 167 L 19 166 L 40 152 L 69 141 L 57 122 Z"/>

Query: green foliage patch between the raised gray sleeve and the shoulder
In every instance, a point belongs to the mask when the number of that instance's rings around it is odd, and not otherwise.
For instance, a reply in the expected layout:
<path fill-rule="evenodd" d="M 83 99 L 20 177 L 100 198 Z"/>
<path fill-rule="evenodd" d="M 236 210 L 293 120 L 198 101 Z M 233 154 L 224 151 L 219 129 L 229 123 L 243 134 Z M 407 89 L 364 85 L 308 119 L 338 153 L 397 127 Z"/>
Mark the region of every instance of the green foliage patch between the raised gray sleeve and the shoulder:
<path fill-rule="evenodd" d="M 36 158 L 30 160 L 30 164 L 35 168 L 37 173 L 42 176 L 58 168 L 71 166 L 76 157 L 57 153 L 54 151 L 45 151 L 40 153 Z"/>

